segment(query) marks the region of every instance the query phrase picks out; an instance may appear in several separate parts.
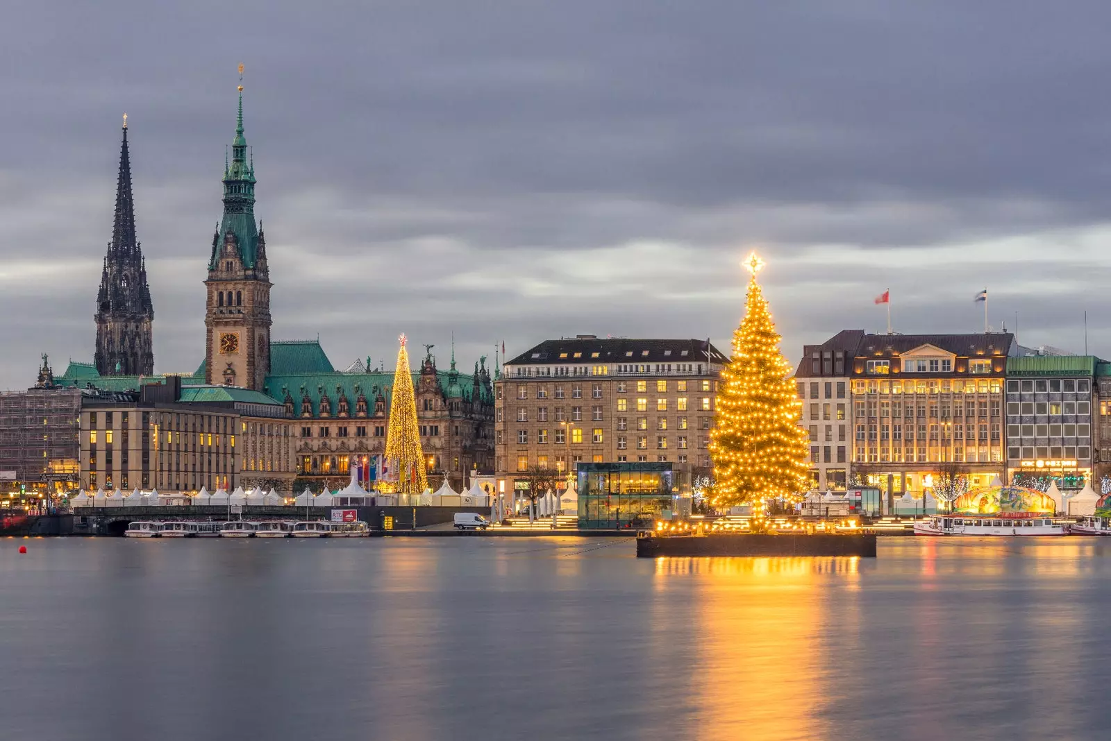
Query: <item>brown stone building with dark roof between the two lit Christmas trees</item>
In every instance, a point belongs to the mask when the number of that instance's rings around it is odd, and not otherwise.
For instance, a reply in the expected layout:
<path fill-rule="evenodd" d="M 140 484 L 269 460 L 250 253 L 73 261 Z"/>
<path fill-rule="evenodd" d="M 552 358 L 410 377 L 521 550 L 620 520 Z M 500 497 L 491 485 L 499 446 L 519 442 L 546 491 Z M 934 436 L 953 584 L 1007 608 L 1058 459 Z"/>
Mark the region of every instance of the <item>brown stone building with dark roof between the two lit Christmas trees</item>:
<path fill-rule="evenodd" d="M 702 339 L 548 339 L 506 363 L 496 386 L 499 487 L 530 467 L 674 463 L 674 485 L 709 475 L 718 374 L 728 358 Z"/>

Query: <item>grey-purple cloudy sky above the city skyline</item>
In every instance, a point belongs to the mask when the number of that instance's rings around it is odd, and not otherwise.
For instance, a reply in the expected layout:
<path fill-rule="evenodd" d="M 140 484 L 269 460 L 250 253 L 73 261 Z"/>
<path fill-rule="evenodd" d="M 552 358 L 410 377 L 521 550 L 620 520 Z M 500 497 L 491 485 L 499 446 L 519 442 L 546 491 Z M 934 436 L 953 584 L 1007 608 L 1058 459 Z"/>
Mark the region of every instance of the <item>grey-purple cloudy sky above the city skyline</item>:
<path fill-rule="evenodd" d="M 166 6 L 166 7 L 161 7 Z M 203 357 L 236 65 L 276 338 L 710 336 L 755 247 L 793 361 L 843 327 L 1111 355 L 1111 8 L 21 3 L 0 24 L 0 388 L 91 359 L 129 114 L 160 372 Z"/>

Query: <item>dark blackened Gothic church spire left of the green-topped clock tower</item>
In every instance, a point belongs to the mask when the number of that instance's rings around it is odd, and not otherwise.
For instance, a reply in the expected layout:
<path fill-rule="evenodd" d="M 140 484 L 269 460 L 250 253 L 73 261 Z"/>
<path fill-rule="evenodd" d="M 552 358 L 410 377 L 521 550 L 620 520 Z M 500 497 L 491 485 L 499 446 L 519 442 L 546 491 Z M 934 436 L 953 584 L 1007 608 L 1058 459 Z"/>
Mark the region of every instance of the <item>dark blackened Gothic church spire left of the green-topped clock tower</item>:
<path fill-rule="evenodd" d="M 150 286 L 147 284 L 147 265 L 141 245 L 136 238 L 131 159 L 128 153 L 128 124 L 124 115 L 112 241 L 108 244 L 97 295 L 97 370 L 101 375 L 152 374 L 153 319 L 154 307 L 150 300 Z"/>

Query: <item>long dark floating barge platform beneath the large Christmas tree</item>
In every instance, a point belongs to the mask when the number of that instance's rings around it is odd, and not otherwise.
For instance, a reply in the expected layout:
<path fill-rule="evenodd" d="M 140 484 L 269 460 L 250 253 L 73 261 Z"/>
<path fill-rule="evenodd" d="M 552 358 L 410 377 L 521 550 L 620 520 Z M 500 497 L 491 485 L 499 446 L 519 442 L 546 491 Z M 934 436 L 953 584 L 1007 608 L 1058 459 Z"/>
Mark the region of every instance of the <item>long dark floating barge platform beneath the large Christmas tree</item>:
<path fill-rule="evenodd" d="M 863 556 L 875 557 L 875 534 L 712 534 L 637 538 L 637 556 Z"/>

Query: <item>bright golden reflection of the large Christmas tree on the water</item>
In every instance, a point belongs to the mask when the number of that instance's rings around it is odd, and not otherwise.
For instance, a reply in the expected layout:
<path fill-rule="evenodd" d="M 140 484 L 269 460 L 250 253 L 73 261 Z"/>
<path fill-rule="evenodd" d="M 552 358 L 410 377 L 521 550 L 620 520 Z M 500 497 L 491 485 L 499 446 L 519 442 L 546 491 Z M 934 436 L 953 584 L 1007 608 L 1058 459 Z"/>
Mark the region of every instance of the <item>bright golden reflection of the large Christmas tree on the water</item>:
<path fill-rule="evenodd" d="M 691 738 L 823 735 L 831 588 L 855 590 L 859 558 L 659 558 L 655 578 L 701 581 Z"/>

